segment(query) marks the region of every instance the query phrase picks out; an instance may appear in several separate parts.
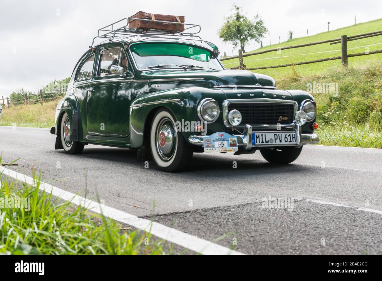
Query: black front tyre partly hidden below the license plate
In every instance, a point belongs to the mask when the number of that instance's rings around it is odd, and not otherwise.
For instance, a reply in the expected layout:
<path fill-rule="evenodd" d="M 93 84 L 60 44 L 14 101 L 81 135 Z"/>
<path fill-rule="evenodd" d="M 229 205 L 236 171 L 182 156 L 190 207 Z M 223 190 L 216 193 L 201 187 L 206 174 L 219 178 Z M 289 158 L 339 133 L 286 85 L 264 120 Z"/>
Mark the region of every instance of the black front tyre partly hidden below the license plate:
<path fill-rule="evenodd" d="M 272 149 L 261 149 L 261 155 L 269 163 L 288 164 L 295 161 L 303 147 L 277 147 Z"/>

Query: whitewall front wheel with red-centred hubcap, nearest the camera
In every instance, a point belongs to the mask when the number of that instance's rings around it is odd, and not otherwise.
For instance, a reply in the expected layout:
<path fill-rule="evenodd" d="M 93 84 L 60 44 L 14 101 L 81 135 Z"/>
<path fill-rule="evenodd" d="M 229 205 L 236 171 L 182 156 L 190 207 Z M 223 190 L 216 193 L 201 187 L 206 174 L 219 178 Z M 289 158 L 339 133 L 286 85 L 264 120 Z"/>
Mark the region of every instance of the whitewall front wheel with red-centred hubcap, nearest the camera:
<path fill-rule="evenodd" d="M 150 130 L 152 158 L 162 171 L 184 170 L 192 158 L 193 149 L 176 131 L 175 118 L 170 111 L 159 110 L 152 121 Z"/>

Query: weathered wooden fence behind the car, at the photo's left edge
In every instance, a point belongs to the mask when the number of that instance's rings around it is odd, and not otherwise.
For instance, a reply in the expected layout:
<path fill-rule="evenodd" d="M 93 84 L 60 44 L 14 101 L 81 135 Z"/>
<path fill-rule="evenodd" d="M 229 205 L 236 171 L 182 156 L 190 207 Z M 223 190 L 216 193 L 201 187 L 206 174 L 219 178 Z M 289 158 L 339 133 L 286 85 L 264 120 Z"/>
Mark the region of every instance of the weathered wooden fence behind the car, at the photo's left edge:
<path fill-rule="evenodd" d="M 10 100 L 9 97 L 2 96 L 3 103 L 0 103 L 0 105 L 3 105 L 3 109 L 5 107 L 9 108 L 9 107 L 19 106 L 19 105 L 28 105 L 29 102 L 33 102 L 33 103 L 40 102 L 42 105 L 44 101 L 58 99 L 62 95 L 65 95 L 65 90 L 66 90 L 65 88 L 62 88 L 62 89 L 58 89 L 57 91 L 44 92 L 44 93 L 42 92 L 42 90 L 40 90 L 39 94 L 34 94 L 34 95 L 27 95 L 25 93 L 24 98 L 18 99 L 18 100 Z"/>

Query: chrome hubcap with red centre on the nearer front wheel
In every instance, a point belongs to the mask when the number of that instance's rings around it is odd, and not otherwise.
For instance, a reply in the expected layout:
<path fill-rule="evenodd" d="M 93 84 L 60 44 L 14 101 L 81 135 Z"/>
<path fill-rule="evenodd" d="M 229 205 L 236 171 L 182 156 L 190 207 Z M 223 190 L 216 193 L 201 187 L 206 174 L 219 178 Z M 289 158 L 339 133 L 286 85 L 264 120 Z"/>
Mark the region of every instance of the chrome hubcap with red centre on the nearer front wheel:
<path fill-rule="evenodd" d="M 176 132 L 168 118 L 160 121 L 157 127 L 155 142 L 160 157 L 165 161 L 170 160 L 175 152 Z"/>

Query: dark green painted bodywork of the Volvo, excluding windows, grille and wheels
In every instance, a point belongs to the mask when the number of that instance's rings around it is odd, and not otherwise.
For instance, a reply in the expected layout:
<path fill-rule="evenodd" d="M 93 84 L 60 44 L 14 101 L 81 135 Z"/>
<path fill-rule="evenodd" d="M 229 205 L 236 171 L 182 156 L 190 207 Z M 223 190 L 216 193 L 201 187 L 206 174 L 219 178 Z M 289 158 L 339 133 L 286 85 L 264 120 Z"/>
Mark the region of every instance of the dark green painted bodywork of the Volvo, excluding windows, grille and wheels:
<path fill-rule="evenodd" d="M 52 133 L 57 135 L 56 149 L 62 149 L 60 141 L 60 123 L 67 113 L 71 123 L 70 140 L 84 144 L 99 144 L 113 147 L 140 149 L 148 139 L 151 122 L 155 113 L 167 108 L 178 121 L 201 122 L 197 108 L 201 100 L 214 99 L 219 104 L 220 114 L 216 121 L 207 124 L 206 134 L 226 132 L 231 135 L 245 134 L 245 124 L 231 126 L 227 122 L 225 101 L 240 102 L 280 102 L 292 103 L 296 110 L 306 100 L 314 101 L 311 94 L 302 90 L 280 90 L 275 87 L 274 79 L 263 74 L 246 70 L 208 68 L 153 68 L 138 69 L 131 53 L 131 45 L 140 42 L 141 37 L 106 42 L 88 50 L 73 70 L 65 97 L 58 103 L 55 127 Z M 147 38 L 146 38 L 147 39 Z M 186 44 L 203 48 L 214 55 L 214 48 L 202 42 L 191 40 L 158 39 L 145 40 L 139 44 Z M 121 56 L 128 60 L 128 70 L 120 74 L 99 76 L 100 57 L 108 48 L 121 48 Z M 93 57 L 94 56 L 94 57 Z M 77 79 L 78 71 L 89 57 L 94 58 L 91 76 Z M 89 70 L 90 73 L 90 70 Z M 268 113 L 272 114 L 272 113 Z M 294 116 L 293 116 L 294 117 Z M 312 124 L 316 118 L 302 126 L 294 120 L 285 124 L 261 124 L 254 126 L 256 131 L 295 130 L 298 133 L 296 147 L 318 142 Z M 253 124 L 252 124 L 253 125 Z M 258 125 L 258 124 L 257 124 Z M 201 134 L 182 131 L 186 142 L 194 145 L 195 152 L 202 152 Z M 196 137 L 196 139 L 195 139 Z M 258 147 L 240 147 L 240 150 L 255 150 Z M 245 145 L 244 145 L 245 146 Z"/>

